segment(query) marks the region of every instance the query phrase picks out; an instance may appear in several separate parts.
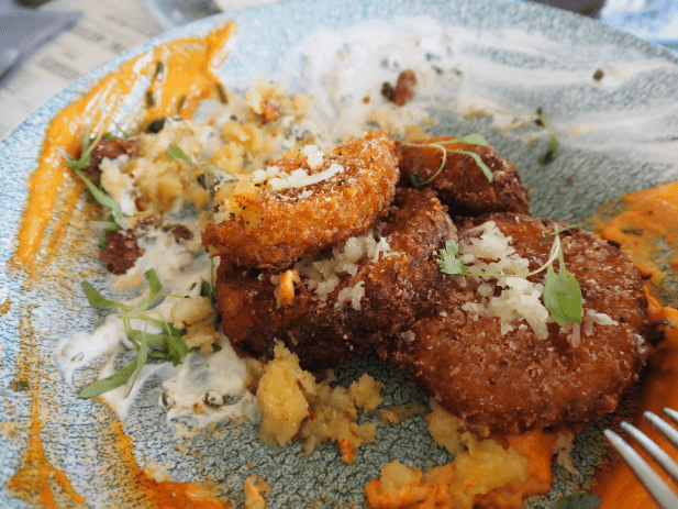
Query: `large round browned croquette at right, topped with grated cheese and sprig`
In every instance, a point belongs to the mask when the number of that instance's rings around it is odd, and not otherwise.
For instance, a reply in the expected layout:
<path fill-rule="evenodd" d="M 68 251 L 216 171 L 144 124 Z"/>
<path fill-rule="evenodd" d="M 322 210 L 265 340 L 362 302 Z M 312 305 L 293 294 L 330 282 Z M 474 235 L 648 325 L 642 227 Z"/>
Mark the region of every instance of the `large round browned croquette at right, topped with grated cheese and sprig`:
<path fill-rule="evenodd" d="M 530 270 L 547 259 L 549 233 L 558 223 L 500 213 L 460 224 L 462 259 L 465 243 L 487 221 L 512 239 Z M 641 276 L 625 253 L 589 233 L 571 230 L 560 237 L 566 267 L 581 287 L 582 324 L 564 330 L 547 320 L 545 338 L 525 320 L 502 331 L 500 318 L 482 309 L 507 289 L 498 279 L 474 277 L 463 278 L 463 287 L 454 276 L 391 358 L 448 411 L 499 431 L 587 421 L 613 411 L 645 363 L 647 302 Z M 544 277 L 540 273 L 530 280 Z"/>

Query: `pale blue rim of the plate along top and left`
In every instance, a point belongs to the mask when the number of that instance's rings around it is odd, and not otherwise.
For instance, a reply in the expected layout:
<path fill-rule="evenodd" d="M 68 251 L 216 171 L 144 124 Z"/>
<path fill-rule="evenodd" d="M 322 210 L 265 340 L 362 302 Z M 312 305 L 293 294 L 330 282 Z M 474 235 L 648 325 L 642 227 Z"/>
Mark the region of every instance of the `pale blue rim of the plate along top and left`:
<path fill-rule="evenodd" d="M 352 0 L 344 2 L 336 9 L 335 2 L 301 0 L 298 2 L 259 7 L 197 21 L 164 33 L 141 46 L 121 54 L 104 66 L 88 73 L 35 110 L 21 125 L 0 140 L 0 175 L 3 176 L 0 210 L 3 210 L 5 219 L 0 225 L 0 263 L 2 265 L 0 269 L 0 300 L 4 300 L 5 295 L 10 296 L 13 301 L 22 302 L 25 300 L 24 296 L 18 289 L 19 285 L 16 280 L 13 279 L 13 276 L 8 274 L 7 263 L 14 251 L 16 229 L 21 213 L 23 212 L 26 196 L 25 177 L 35 168 L 35 162 L 46 125 L 60 109 L 66 107 L 82 92 L 86 92 L 91 84 L 101 79 L 123 62 L 167 41 L 190 35 L 205 34 L 218 23 L 223 23 L 230 19 L 234 19 L 241 26 L 241 32 L 244 32 L 243 26 L 247 26 L 248 23 L 252 23 L 252 26 L 256 27 L 260 26 L 262 23 L 265 24 L 265 21 L 262 20 L 266 20 L 267 18 L 290 20 L 304 18 L 304 12 L 308 12 L 309 9 L 315 9 L 319 12 L 319 22 L 335 30 L 375 16 L 384 18 L 388 14 L 401 14 L 405 12 L 424 14 L 427 9 L 429 12 L 452 12 L 458 16 L 471 16 L 474 20 L 471 24 L 475 26 L 491 27 L 493 26 L 492 23 L 487 22 L 482 14 L 487 12 L 488 9 L 492 9 L 494 18 L 498 16 L 498 13 L 507 15 L 508 19 L 511 19 L 511 16 L 515 14 L 520 14 L 521 23 L 516 24 L 516 27 L 531 30 L 530 27 L 534 29 L 538 26 L 540 30 L 544 31 L 546 34 L 553 35 L 555 40 L 563 37 L 564 32 L 567 32 L 569 36 L 573 36 L 573 32 L 576 32 L 574 35 L 588 41 L 601 38 L 621 46 L 634 47 L 647 55 L 647 57 L 658 57 L 678 65 L 678 55 L 664 47 L 655 46 L 630 34 L 601 25 L 593 20 L 578 16 L 577 14 L 523 2 L 496 2 L 486 0 L 484 2 L 456 2 L 454 5 L 451 5 L 446 1 L 416 2 L 415 0 L 400 0 L 386 3 Z M 496 21 L 497 20 L 494 20 L 494 22 Z M 574 25 L 577 25 L 577 27 L 574 27 Z M 277 34 L 281 33 L 281 31 L 277 29 L 273 32 Z M 293 38 L 286 40 L 282 47 L 289 47 L 294 41 Z M 237 48 L 235 52 L 237 52 Z M 236 57 L 237 55 L 234 54 L 233 56 Z M 276 62 L 267 62 L 265 65 L 253 70 L 251 67 L 245 67 L 237 58 L 233 58 L 231 62 L 226 63 L 226 66 L 231 69 L 241 69 L 244 82 L 252 79 L 253 73 L 256 73 L 258 76 L 266 76 L 277 70 L 275 68 Z M 676 95 L 678 97 L 678 85 L 676 86 Z M 10 320 L 0 319 L 0 345 L 5 356 L 5 358 L 3 358 L 4 365 L 11 364 L 11 347 L 12 342 L 15 341 L 15 336 L 16 324 Z M 10 355 L 7 355 L 8 353 Z M 0 372 L 0 374 L 2 372 Z M 8 392 L 10 390 L 10 378 L 0 376 L 0 381 L 2 381 L 3 394 Z M 12 418 L 12 414 L 0 414 L 0 420 Z M 3 500 L 3 497 L 7 497 L 4 482 L 9 475 L 11 475 L 11 469 L 8 469 L 7 466 L 0 467 L 0 480 L 2 482 L 0 501 Z M 23 507 L 22 505 L 16 505 L 16 499 L 13 498 L 4 499 L 4 504 L 5 507 Z"/>

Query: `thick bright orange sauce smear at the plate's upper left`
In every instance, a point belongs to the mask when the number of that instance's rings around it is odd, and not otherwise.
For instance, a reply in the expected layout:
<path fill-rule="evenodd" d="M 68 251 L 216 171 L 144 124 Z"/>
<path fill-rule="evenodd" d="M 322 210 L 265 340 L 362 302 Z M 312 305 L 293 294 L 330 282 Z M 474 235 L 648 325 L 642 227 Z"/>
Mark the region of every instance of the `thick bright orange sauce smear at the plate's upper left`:
<path fill-rule="evenodd" d="M 35 267 L 38 252 L 44 247 L 43 234 L 54 218 L 59 189 L 65 178 L 74 178 L 59 150 L 78 156 L 82 150 L 84 129 L 108 120 L 144 77 L 152 78 L 146 96 L 153 100 L 140 113 L 137 120 L 142 125 L 160 117 L 190 117 L 201 99 L 221 87 L 215 70 L 227 56 L 226 43 L 234 32 L 235 24 L 230 22 L 207 37 L 182 38 L 149 49 L 109 74 L 49 123 L 37 169 L 29 179 L 29 199 L 19 232 L 19 247 L 12 258 L 14 264 L 29 269 Z M 62 222 L 55 229 L 53 241 L 47 242 L 47 255 L 56 251 L 68 217 Z"/>

